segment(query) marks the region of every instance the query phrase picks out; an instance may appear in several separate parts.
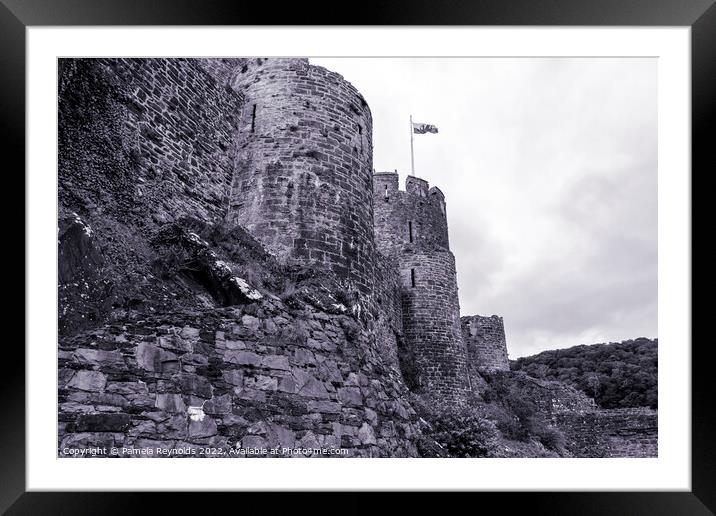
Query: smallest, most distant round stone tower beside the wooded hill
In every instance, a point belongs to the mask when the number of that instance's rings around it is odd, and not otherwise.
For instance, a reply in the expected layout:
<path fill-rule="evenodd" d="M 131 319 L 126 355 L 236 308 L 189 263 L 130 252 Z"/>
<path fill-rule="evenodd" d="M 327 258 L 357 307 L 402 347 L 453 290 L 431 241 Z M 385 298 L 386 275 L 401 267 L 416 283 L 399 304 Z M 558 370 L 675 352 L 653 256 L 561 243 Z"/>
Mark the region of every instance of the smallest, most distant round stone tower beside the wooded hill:
<path fill-rule="evenodd" d="M 462 317 L 460 321 L 471 374 L 483 370 L 509 371 L 502 317 L 470 315 Z"/>

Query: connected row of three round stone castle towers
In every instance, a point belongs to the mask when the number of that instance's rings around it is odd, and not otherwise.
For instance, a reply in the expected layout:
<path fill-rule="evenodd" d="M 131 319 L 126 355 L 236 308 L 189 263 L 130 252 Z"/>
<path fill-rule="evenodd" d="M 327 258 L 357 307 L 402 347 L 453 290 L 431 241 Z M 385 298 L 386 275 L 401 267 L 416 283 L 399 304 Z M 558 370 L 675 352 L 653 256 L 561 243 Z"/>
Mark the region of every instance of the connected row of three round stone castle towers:
<path fill-rule="evenodd" d="M 509 369 L 501 318 L 461 322 L 445 196 L 418 177 L 400 190 L 397 172 L 373 172 L 370 108 L 349 82 L 307 59 L 202 66 L 244 100 L 230 221 L 360 292 L 394 336 L 386 353 L 410 351 L 421 392 L 462 400 L 468 370 Z"/>

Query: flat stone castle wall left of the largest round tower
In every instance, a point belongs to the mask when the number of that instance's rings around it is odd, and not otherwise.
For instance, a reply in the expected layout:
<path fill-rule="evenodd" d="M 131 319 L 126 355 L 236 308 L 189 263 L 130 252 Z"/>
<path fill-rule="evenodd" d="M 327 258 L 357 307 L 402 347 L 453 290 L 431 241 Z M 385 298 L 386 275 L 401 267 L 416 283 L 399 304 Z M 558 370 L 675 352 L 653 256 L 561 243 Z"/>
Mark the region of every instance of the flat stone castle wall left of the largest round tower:
<path fill-rule="evenodd" d="M 192 59 L 60 60 L 59 90 L 63 206 L 223 219 L 240 94 Z"/>

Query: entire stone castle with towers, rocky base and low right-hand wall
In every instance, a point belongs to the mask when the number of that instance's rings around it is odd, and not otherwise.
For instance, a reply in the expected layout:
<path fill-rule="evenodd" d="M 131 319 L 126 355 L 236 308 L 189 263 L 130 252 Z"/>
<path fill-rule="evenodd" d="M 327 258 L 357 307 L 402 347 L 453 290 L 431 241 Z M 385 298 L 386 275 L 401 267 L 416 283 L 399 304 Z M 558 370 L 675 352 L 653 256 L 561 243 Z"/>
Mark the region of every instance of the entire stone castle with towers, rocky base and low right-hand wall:
<path fill-rule="evenodd" d="M 339 74 L 61 59 L 58 90 L 59 456 L 433 456 L 419 404 L 509 371 L 502 318 L 460 317 L 445 196 L 374 171 L 370 108 Z M 570 453 L 654 454 L 655 414 L 554 383 L 529 396 Z"/>

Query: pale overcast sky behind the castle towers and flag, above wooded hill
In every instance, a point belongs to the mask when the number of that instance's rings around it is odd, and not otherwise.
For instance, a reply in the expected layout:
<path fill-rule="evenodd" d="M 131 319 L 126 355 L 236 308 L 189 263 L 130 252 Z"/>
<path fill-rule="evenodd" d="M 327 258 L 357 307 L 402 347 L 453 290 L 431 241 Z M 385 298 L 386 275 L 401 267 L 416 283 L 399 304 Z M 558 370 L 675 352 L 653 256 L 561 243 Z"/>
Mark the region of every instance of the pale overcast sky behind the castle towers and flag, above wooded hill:
<path fill-rule="evenodd" d="M 657 336 L 656 60 L 311 59 L 373 113 L 374 167 L 448 208 L 462 315 L 511 358 Z"/>

